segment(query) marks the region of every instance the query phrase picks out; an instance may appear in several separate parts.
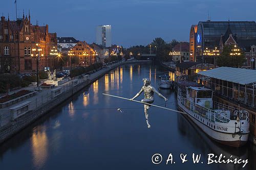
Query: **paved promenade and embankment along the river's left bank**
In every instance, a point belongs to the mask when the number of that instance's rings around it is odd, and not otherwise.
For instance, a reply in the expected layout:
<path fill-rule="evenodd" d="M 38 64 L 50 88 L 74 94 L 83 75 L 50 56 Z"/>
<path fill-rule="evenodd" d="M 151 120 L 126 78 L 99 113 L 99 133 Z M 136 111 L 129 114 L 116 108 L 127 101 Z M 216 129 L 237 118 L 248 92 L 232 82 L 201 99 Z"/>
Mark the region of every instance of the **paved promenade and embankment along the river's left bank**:
<path fill-rule="evenodd" d="M 56 86 L 52 89 L 43 89 L 37 91 L 35 95 L 28 99 L 20 101 L 14 105 L 0 109 L 0 143 L 4 142 L 12 135 L 18 133 L 31 123 L 33 123 L 40 116 L 46 114 L 63 101 L 69 99 L 74 93 L 79 92 L 82 88 L 93 83 L 99 77 L 103 76 L 112 69 L 122 65 L 131 63 L 147 63 L 151 61 L 123 61 L 112 65 L 107 68 L 102 68 L 89 76 L 89 79 L 76 77 L 62 85 Z M 74 85 L 74 82 L 76 84 Z M 34 91 L 36 86 L 29 86 L 20 88 L 19 90 L 31 90 Z M 58 92 L 56 94 L 56 92 Z M 55 95 L 56 94 L 56 95 Z M 13 119 L 13 115 L 10 112 L 11 108 L 18 107 L 24 103 L 29 103 L 29 111 L 22 116 Z"/>

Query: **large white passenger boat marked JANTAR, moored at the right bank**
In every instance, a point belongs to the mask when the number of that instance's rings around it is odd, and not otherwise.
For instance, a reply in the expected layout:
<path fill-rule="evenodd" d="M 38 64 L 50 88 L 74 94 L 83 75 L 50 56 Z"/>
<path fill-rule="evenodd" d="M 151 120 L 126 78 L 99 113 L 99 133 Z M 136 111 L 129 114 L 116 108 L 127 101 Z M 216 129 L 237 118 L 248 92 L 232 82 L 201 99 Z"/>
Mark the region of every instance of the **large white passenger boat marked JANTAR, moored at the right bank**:
<path fill-rule="evenodd" d="M 211 89 L 197 83 L 179 82 L 179 109 L 212 139 L 231 147 L 241 147 L 248 140 L 248 112 L 214 102 L 212 93 Z"/>

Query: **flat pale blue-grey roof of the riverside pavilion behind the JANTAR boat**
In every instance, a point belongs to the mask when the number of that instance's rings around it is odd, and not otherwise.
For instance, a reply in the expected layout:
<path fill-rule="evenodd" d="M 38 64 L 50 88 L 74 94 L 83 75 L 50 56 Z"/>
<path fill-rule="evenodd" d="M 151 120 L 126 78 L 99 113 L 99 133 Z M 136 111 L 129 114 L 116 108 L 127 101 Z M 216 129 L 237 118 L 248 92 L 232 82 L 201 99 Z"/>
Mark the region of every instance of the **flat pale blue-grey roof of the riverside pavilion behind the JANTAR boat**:
<path fill-rule="evenodd" d="M 198 72 L 198 75 L 220 79 L 238 84 L 256 83 L 256 70 L 233 67 L 218 67 Z"/>

